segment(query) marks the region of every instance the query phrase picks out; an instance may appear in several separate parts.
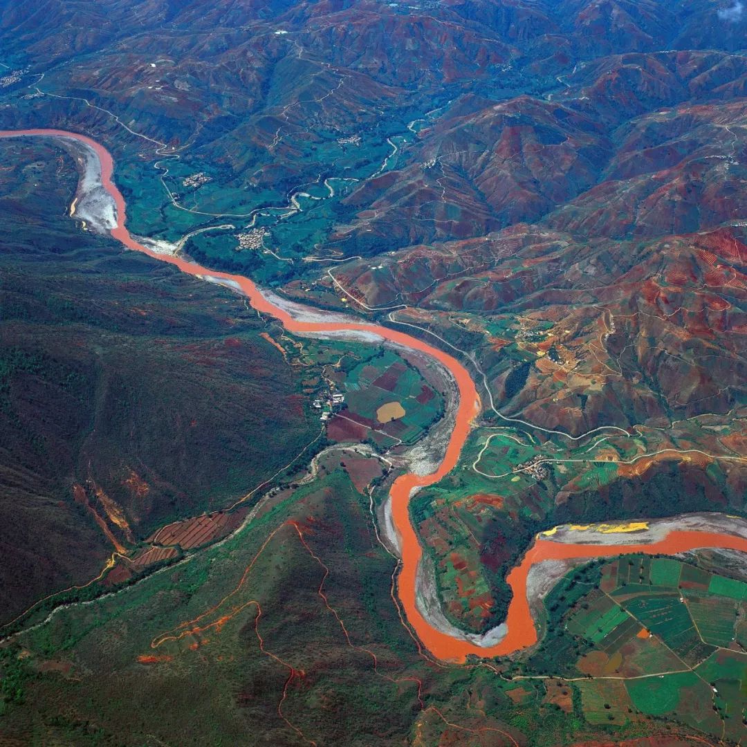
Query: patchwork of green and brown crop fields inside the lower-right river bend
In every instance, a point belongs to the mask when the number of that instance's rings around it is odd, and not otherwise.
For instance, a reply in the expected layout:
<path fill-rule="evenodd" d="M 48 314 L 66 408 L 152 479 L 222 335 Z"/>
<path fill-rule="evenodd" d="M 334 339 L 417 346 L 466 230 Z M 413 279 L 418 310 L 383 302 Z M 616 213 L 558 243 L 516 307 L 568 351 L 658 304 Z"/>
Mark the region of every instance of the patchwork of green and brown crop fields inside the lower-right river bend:
<path fill-rule="evenodd" d="M 548 637 L 531 661 L 577 680 L 587 722 L 666 719 L 743 737 L 747 583 L 634 555 L 571 572 L 546 606 Z"/>

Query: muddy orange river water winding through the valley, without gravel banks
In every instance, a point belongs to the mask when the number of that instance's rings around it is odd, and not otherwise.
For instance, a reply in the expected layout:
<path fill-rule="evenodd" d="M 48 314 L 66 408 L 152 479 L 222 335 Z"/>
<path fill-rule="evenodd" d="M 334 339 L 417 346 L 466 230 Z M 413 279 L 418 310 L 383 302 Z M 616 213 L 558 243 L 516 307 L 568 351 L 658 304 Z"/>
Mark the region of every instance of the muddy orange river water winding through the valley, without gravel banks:
<path fill-rule="evenodd" d="M 402 566 L 397 580 L 397 592 L 409 624 L 415 630 L 415 633 L 424 643 L 425 647 L 439 659 L 463 662 L 468 654 L 474 654 L 479 657 L 494 657 L 512 654 L 515 651 L 536 643 L 536 627 L 533 622 L 530 604 L 527 600 L 527 576 L 533 565 L 539 562 L 545 560 L 591 559 L 629 553 L 675 554 L 696 548 L 724 548 L 747 552 L 747 539 L 742 536 L 695 530 L 672 530 L 659 542 L 639 545 L 584 545 L 554 542 L 538 538 L 530 550 L 527 551 L 527 554 L 525 554 L 521 564 L 513 568 L 507 577 L 509 586 L 513 592 L 513 598 L 506 620 L 508 632 L 503 637 L 503 640 L 495 645 L 481 646 L 471 640 L 457 638 L 438 630 L 425 619 L 418 609 L 415 588 L 422 550 L 415 530 L 410 523 L 408 504 L 410 496 L 415 489 L 437 483 L 456 466 L 459 453 L 461 453 L 462 446 L 465 444 L 472 421 L 479 412 L 480 400 L 477 396 L 477 390 L 465 367 L 453 358 L 453 356 L 418 340 L 418 338 L 377 324 L 298 320 L 288 311 L 276 306 L 275 303 L 264 297 L 261 290 L 248 278 L 241 275 L 208 270 L 206 267 L 202 267 L 194 262 L 186 261 L 173 255 L 155 252 L 143 246 L 143 244 L 132 238 L 125 226 L 125 200 L 112 180 L 114 161 L 103 146 L 90 137 L 64 130 L 31 129 L 0 131 L 0 137 L 28 136 L 75 140 L 96 153 L 101 166 L 102 187 L 111 196 L 111 199 L 114 200 L 116 207 L 115 225 L 110 230 L 111 236 L 120 241 L 125 247 L 128 247 L 128 249 L 134 249 L 158 261 L 173 264 L 188 275 L 229 283 L 241 290 L 253 309 L 262 314 L 269 314 L 275 317 L 285 326 L 285 329 L 288 329 L 288 332 L 301 334 L 314 333 L 316 335 L 323 335 L 325 332 L 330 335 L 339 332 L 353 332 L 364 335 L 376 335 L 377 338 L 383 338 L 400 346 L 408 347 L 411 350 L 418 350 L 436 359 L 450 371 L 458 387 L 459 403 L 456 411 L 456 422 L 450 434 L 444 459 L 438 465 L 436 471 L 431 474 L 425 476 L 416 474 L 401 475 L 392 484 L 390 492 L 392 518 L 397 533 L 400 536 L 402 559 Z"/>

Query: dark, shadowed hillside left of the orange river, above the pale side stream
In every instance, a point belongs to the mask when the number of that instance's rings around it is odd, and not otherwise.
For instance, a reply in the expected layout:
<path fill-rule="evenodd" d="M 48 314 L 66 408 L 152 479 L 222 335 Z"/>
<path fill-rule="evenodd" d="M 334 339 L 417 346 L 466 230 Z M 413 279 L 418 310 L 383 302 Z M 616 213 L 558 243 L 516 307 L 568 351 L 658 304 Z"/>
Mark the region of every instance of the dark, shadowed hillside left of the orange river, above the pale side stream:
<path fill-rule="evenodd" d="M 87 580 L 111 552 L 72 483 L 93 480 L 137 539 L 252 489 L 317 426 L 291 367 L 259 338 L 264 320 L 226 291 L 73 229 L 75 173 L 57 149 L 0 148 L 10 163 L 0 192 L 0 548 L 10 558 L 0 609 L 10 618 Z"/>

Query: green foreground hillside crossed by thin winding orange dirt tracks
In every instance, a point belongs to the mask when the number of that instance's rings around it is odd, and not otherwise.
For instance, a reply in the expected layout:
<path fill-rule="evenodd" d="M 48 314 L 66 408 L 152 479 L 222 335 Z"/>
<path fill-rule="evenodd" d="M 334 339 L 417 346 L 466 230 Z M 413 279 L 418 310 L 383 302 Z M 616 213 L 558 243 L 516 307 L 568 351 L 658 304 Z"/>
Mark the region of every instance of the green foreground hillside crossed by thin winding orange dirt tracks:
<path fill-rule="evenodd" d="M 512 744 L 506 734 L 520 745 L 595 734 L 550 704 L 543 683 L 418 655 L 389 595 L 394 562 L 376 542 L 368 498 L 335 462 L 220 547 L 17 639 L 5 671 L 19 692 L 6 695 L 0 738 L 500 747 Z M 164 639 L 174 628 L 195 632 Z M 30 654 L 18 662 L 22 648 Z"/>

